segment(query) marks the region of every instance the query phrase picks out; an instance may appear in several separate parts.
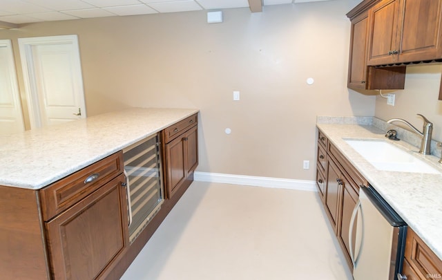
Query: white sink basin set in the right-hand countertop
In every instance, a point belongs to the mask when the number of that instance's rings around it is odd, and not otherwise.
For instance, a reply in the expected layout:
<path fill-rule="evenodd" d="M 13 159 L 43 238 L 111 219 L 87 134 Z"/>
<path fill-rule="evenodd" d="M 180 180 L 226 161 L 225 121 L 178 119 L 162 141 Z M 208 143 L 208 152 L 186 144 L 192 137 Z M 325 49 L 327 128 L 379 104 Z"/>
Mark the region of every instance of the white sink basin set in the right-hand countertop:
<path fill-rule="evenodd" d="M 378 170 L 441 174 L 441 171 L 386 140 L 343 139 Z"/>

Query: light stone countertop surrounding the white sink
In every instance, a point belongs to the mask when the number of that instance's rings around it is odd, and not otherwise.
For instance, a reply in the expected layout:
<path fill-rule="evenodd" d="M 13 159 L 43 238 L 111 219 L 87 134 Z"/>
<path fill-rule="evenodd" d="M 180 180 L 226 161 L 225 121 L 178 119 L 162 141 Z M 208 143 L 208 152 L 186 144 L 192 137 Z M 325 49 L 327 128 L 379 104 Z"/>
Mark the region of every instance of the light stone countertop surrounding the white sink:
<path fill-rule="evenodd" d="M 385 131 L 372 125 L 316 124 L 329 141 L 358 169 L 370 185 L 442 259 L 442 165 L 436 156 L 424 156 L 404 141 L 389 141 Z M 379 139 L 411 151 L 441 174 L 421 174 L 376 169 L 343 138 Z"/>

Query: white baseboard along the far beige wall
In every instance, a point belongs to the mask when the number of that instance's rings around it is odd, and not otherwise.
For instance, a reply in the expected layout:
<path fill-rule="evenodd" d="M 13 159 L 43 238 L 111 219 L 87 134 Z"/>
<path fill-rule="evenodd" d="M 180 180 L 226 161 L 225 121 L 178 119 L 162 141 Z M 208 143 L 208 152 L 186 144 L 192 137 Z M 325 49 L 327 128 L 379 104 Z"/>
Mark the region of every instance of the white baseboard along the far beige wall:
<path fill-rule="evenodd" d="M 308 180 L 220 174 L 198 171 L 193 173 L 193 180 L 211 183 L 273 187 L 277 189 L 298 189 L 302 191 L 317 192 L 316 181 Z"/>

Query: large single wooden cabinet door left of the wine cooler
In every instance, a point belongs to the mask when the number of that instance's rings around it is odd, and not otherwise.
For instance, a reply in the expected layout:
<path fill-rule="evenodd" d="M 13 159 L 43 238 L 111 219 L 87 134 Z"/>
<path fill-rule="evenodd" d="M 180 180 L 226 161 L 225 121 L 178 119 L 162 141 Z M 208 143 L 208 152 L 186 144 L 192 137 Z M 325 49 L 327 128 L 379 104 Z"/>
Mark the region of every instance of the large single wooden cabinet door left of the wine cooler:
<path fill-rule="evenodd" d="M 120 175 L 46 223 L 53 279 L 95 279 L 127 244 Z"/>

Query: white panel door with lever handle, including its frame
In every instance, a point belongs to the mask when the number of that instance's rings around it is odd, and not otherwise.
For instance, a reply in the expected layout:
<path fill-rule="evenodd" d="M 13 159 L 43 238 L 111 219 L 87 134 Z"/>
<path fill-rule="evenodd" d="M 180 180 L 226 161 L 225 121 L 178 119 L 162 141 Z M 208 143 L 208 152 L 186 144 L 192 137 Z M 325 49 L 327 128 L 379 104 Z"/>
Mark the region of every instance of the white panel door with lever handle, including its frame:
<path fill-rule="evenodd" d="M 19 45 L 31 128 L 86 118 L 77 36 L 21 38 Z"/>

